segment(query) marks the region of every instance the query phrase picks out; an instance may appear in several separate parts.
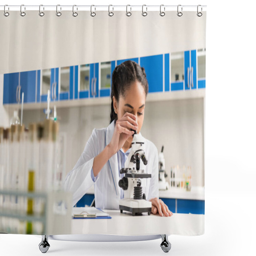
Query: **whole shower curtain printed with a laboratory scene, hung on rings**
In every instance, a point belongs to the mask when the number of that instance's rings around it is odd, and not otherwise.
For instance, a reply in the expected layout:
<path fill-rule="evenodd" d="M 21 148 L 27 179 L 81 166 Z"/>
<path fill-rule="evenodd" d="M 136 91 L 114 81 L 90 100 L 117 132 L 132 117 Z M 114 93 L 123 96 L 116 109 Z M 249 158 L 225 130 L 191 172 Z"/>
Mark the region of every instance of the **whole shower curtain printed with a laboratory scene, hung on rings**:
<path fill-rule="evenodd" d="M 206 7 L 117 9 L 1 8 L 2 233 L 204 234 Z"/>

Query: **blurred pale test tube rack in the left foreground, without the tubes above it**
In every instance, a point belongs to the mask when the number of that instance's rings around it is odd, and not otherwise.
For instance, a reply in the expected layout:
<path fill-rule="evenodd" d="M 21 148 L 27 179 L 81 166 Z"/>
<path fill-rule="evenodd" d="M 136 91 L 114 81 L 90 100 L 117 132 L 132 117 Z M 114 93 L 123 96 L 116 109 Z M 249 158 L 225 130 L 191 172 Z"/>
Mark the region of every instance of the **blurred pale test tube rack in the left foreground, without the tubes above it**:
<path fill-rule="evenodd" d="M 72 194 L 69 191 L 49 191 L 49 192 L 27 192 L 19 190 L 0 190 L 0 197 L 18 196 L 27 197 L 32 200 L 39 198 L 44 200 L 45 207 L 41 214 L 28 214 L 16 209 L 6 209 L 1 207 L 0 218 L 9 220 L 27 221 L 30 223 L 40 222 L 43 224 L 41 233 L 30 233 L 34 235 L 65 235 L 71 233 L 71 216 L 72 216 Z M 16 223 L 19 223 L 16 221 Z M 24 234 L 6 230 L 0 225 L 0 233 Z M 26 233 L 28 234 L 28 233 Z"/>

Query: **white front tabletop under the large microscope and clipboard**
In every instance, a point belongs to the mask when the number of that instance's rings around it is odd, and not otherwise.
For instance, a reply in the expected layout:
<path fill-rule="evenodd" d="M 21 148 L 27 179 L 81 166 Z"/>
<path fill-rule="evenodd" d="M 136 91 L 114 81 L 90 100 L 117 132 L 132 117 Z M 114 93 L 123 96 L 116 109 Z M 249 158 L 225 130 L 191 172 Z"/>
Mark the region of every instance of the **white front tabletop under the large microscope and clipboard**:
<path fill-rule="evenodd" d="M 111 219 L 72 219 L 71 234 L 155 235 L 175 234 L 194 236 L 204 234 L 203 214 L 173 213 L 172 216 L 143 213 L 132 216 L 131 212 L 103 210 Z"/>

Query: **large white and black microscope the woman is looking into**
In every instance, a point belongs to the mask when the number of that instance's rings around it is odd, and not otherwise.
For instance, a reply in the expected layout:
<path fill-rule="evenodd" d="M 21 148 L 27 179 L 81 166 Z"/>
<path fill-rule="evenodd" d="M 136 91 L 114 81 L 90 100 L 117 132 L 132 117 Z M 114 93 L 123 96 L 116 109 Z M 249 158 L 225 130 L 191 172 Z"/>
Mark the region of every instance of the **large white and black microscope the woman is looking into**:
<path fill-rule="evenodd" d="M 124 168 L 120 170 L 124 177 L 119 180 L 118 185 L 124 190 L 124 198 L 119 200 L 119 209 L 121 213 L 123 210 L 132 212 L 132 216 L 142 212 L 148 212 L 150 215 L 152 208 L 152 203 L 146 200 L 145 193 L 142 194 L 141 187 L 141 179 L 151 178 L 150 173 L 140 170 L 140 161 L 148 164 L 144 145 L 142 136 L 134 131 L 131 152 L 124 163 Z"/>

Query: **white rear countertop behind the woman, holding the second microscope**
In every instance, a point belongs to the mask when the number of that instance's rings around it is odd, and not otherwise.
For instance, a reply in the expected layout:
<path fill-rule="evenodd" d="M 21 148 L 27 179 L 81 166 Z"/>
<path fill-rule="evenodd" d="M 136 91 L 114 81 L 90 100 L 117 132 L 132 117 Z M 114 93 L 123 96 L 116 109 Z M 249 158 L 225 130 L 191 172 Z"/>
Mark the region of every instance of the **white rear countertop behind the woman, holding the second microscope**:
<path fill-rule="evenodd" d="M 87 194 L 94 194 L 94 186 L 92 186 Z M 191 187 L 190 191 L 183 188 L 169 188 L 167 190 L 159 190 L 159 197 L 174 199 L 191 199 L 204 200 L 204 187 Z"/>

